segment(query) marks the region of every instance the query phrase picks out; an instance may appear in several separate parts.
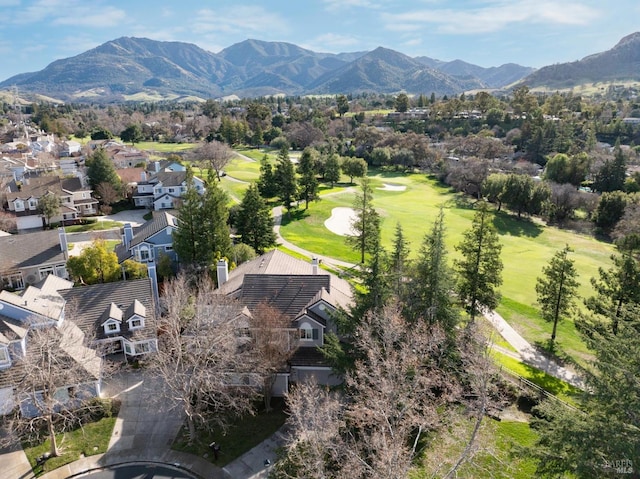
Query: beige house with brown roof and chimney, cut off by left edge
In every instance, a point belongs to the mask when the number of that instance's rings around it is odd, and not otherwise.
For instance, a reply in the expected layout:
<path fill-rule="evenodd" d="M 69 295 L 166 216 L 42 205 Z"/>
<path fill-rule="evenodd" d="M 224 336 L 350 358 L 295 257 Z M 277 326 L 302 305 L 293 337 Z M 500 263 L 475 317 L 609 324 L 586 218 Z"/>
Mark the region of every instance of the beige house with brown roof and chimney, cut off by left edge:
<path fill-rule="evenodd" d="M 67 279 L 69 248 L 64 228 L 0 237 L 0 287 L 24 289 L 48 275 Z"/>

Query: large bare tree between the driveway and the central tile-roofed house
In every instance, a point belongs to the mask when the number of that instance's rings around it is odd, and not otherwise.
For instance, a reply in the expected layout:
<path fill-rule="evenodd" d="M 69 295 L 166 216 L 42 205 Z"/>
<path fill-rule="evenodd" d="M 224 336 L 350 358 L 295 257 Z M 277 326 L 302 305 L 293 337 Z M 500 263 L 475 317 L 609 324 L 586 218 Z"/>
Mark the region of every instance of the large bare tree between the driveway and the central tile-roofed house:
<path fill-rule="evenodd" d="M 215 294 L 208 277 L 189 284 L 184 275 L 165 287 L 158 353 L 151 374 L 165 383 L 158 394 L 183 409 L 190 440 L 196 427 L 226 429 L 234 415 L 252 412 L 260 393 L 251 338 L 238 332 L 242 307 Z"/>

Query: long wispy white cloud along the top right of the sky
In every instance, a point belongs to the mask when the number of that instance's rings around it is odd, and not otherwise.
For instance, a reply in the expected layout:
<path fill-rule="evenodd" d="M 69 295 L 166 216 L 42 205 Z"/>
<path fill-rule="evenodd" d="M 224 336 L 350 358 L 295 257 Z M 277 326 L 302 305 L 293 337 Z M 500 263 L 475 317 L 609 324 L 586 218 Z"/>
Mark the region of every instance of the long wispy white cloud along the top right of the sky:
<path fill-rule="evenodd" d="M 514 24 L 587 25 L 599 12 L 578 2 L 536 0 L 489 1 L 484 6 L 455 10 L 450 8 L 383 14 L 385 28 L 414 31 L 425 24 L 437 26 L 439 33 L 473 34 L 502 30 Z"/>

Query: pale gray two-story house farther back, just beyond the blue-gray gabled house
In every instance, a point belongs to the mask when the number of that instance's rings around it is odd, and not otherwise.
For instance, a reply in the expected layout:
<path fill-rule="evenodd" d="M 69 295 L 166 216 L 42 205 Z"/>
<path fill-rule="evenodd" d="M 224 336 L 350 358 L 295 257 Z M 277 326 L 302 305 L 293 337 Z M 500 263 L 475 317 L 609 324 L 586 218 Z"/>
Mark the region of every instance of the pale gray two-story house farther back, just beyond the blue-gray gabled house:
<path fill-rule="evenodd" d="M 204 193 L 204 181 L 200 178 L 193 177 L 193 186 L 198 193 Z M 186 171 L 160 171 L 138 182 L 133 201 L 136 206 L 153 210 L 173 209 L 186 191 Z"/>

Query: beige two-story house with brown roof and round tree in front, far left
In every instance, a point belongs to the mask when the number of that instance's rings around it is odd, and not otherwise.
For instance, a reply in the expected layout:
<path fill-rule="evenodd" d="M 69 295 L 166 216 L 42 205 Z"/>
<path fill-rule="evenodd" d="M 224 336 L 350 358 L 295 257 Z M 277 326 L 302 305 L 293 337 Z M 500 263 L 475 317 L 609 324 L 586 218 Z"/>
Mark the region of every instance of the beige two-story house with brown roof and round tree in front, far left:
<path fill-rule="evenodd" d="M 60 198 L 60 214 L 51 218 L 52 222 L 57 223 L 97 214 L 98 200 L 91 193 L 92 190 L 84 186 L 79 178 L 24 178 L 21 184 L 15 181 L 9 183 L 7 205 L 9 212 L 16 216 L 18 230 L 42 228 L 44 218 L 38 210 L 38 201 L 42 196 L 53 194 Z"/>

